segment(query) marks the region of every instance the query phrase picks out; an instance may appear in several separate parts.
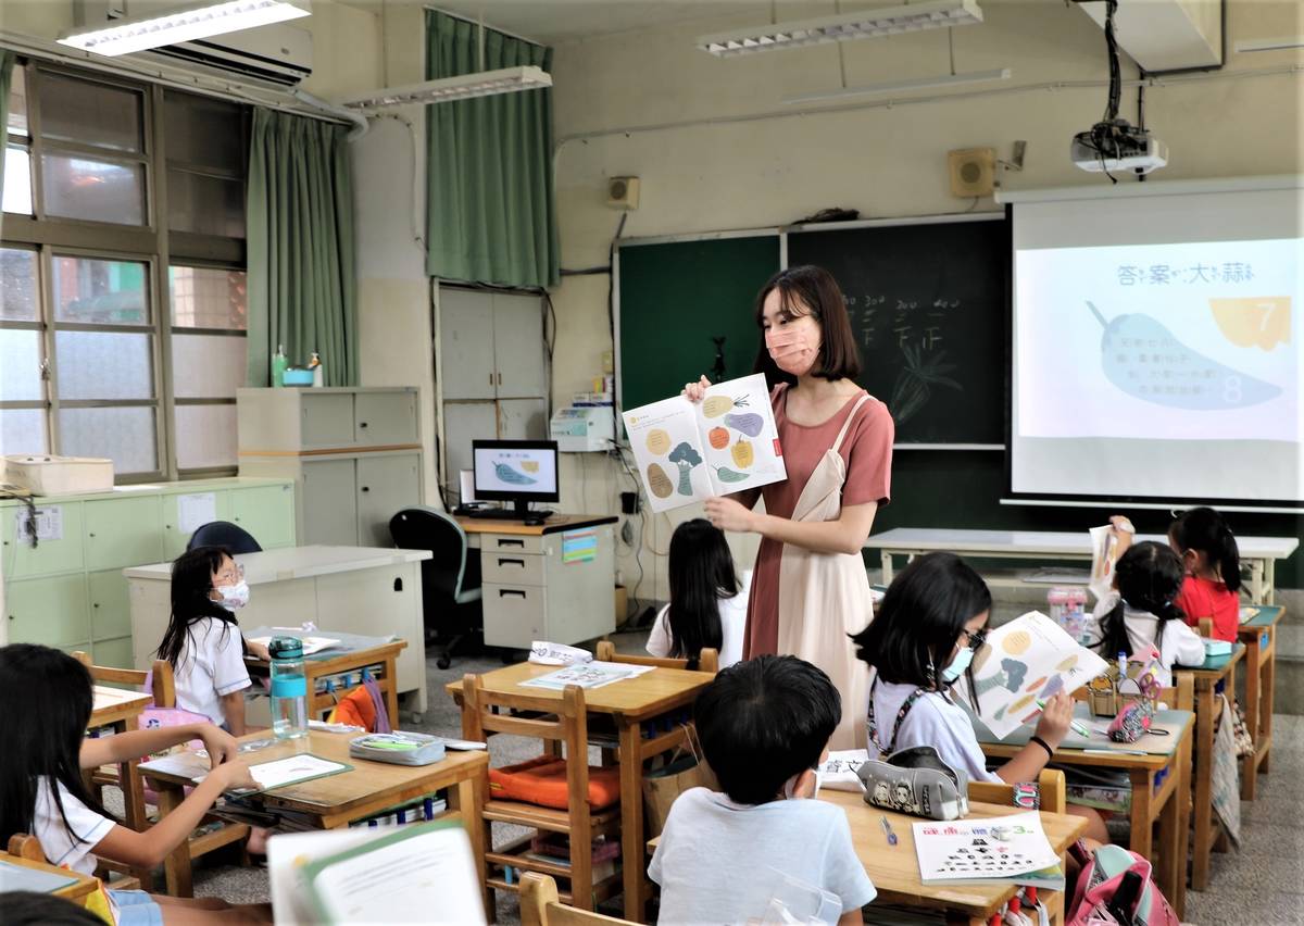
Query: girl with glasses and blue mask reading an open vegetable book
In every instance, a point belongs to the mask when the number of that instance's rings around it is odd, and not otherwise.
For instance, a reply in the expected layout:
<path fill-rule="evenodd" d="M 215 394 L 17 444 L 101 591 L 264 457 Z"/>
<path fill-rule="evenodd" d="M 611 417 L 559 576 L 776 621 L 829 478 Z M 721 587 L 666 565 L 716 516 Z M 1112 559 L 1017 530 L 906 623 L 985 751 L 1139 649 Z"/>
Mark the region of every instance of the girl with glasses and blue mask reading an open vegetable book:
<path fill-rule="evenodd" d="M 1071 695 L 1060 691 L 1047 699 L 1031 739 L 995 772 L 987 771 L 969 715 L 951 696 L 961 677 L 973 691 L 969 663 L 987 635 L 990 613 L 987 584 L 952 553 L 918 557 L 893 579 L 878 616 L 853 638 L 857 656 L 872 669 L 871 754 L 934 746 L 973 781 L 1037 780 L 1068 733 Z M 1088 837 L 1108 841 L 1094 810 L 1069 805 L 1069 813 L 1090 822 Z"/>

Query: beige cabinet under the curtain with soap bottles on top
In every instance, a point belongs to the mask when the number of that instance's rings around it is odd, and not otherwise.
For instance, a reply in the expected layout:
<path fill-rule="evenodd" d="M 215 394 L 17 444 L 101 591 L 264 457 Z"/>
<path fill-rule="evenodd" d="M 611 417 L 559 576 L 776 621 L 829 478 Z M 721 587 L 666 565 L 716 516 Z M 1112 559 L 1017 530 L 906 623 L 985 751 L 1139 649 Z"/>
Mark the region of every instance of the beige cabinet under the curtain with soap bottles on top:
<path fill-rule="evenodd" d="M 240 473 L 292 480 L 300 543 L 393 546 L 390 518 L 422 500 L 415 387 L 241 389 L 236 403 Z"/>

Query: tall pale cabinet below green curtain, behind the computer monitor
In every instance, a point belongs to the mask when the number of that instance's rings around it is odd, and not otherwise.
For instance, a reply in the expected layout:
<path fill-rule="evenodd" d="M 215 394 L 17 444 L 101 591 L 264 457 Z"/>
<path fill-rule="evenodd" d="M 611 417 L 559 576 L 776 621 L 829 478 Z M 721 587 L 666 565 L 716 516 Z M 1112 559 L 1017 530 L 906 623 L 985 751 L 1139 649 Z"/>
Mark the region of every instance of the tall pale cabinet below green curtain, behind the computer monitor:
<path fill-rule="evenodd" d="M 531 293 L 439 288 L 443 472 L 471 468 L 475 440 L 545 440 L 542 301 Z"/>

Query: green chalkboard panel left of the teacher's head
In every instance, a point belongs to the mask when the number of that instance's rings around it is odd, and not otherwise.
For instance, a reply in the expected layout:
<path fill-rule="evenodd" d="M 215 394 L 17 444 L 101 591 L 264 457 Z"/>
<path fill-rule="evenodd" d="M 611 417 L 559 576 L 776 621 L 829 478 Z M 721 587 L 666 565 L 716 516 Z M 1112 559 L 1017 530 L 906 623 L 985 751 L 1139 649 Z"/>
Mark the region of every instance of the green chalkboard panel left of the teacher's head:
<path fill-rule="evenodd" d="M 675 395 L 716 363 L 724 338 L 722 380 L 751 373 L 760 346 L 752 306 L 778 270 L 778 235 L 700 241 L 622 244 L 619 353 L 621 407 Z"/>

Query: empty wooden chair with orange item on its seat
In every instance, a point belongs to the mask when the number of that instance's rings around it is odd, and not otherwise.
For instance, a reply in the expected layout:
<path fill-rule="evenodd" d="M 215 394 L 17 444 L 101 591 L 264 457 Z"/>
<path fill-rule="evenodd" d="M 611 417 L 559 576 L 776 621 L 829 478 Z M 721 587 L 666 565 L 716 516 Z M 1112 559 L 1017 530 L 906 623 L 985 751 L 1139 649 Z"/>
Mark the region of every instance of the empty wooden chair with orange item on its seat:
<path fill-rule="evenodd" d="M 527 694 L 496 694 L 486 691 L 479 676 L 462 680 L 463 738 L 485 742 L 490 733 L 511 733 L 561 743 L 566 747 L 567 809 L 557 810 L 523 801 L 498 801 L 486 797 L 481 816 L 489 826 L 486 845 L 492 845 L 493 823 L 512 823 L 536 831 L 563 833 L 570 840 L 570 866 L 526 858 L 531 837 L 514 840 L 499 850 L 486 848 L 485 857 L 477 859 L 486 888 L 520 891 L 519 884 L 506 876 L 493 876 L 494 866 L 511 867 L 522 873 L 539 871 L 570 880 L 570 892 L 561 897 L 580 909 L 591 910 L 597 900 L 605 900 L 621 891 L 621 873 L 593 884 L 593 837 L 619 837 L 621 807 L 613 805 L 601 811 L 588 806 L 588 716 L 584 708 L 584 690 L 569 685 L 561 700 Z M 516 716 L 511 712 L 526 712 Z M 489 788 L 485 788 L 485 794 Z M 639 863 L 635 859 L 632 863 Z M 506 874 L 506 873 L 503 873 Z M 554 895 L 556 896 L 556 895 Z M 493 909 L 493 905 L 489 905 Z"/>

